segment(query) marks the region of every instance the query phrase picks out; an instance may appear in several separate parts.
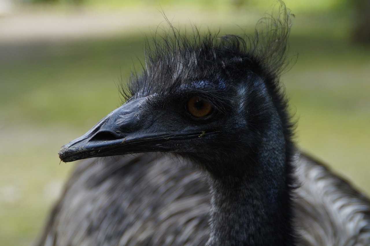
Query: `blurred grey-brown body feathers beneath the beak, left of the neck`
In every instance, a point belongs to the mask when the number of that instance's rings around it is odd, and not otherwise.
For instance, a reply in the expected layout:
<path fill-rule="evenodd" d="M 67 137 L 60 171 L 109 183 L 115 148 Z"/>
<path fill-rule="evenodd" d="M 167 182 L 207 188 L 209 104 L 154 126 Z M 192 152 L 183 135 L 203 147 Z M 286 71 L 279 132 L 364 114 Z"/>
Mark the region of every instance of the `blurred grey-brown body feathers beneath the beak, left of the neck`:
<path fill-rule="evenodd" d="M 67 187 L 47 226 L 45 237 L 55 245 L 204 245 L 208 239 L 209 189 L 177 159 L 87 160 Z"/>

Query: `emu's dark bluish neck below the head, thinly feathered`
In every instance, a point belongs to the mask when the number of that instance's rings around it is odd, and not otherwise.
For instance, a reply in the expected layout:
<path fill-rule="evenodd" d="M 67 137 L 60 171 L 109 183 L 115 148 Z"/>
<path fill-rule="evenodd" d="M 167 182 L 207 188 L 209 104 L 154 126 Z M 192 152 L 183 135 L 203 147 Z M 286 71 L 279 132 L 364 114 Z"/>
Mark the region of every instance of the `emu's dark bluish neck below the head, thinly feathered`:
<path fill-rule="evenodd" d="M 246 151 L 252 152 L 252 157 L 222 164 L 246 167 L 240 175 L 209 175 L 212 210 L 208 246 L 294 245 L 291 168 L 282 131 L 274 123 L 270 127 L 257 151 Z"/>

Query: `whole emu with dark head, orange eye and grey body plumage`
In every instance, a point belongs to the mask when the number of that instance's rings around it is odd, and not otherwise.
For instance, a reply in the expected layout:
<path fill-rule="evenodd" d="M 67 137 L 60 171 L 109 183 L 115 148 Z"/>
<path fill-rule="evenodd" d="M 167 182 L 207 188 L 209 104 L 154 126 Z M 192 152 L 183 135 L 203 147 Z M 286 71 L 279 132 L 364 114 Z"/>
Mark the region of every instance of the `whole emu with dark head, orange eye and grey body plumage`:
<path fill-rule="evenodd" d="M 38 245 L 370 245 L 369 199 L 294 143 L 291 16 L 222 37 L 168 21 L 126 102 L 59 151 L 86 160 Z"/>

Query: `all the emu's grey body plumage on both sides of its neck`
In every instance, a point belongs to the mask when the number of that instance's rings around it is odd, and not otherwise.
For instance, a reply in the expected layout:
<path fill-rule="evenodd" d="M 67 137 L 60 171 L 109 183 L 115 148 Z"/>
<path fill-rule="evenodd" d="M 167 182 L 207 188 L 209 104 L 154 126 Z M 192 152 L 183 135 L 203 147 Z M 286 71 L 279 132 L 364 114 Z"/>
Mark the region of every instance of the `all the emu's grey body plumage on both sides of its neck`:
<path fill-rule="evenodd" d="M 296 155 L 297 245 L 369 245 L 370 203 L 311 158 Z M 318 180 L 320 180 L 318 182 Z M 54 208 L 40 245 L 204 245 L 209 188 L 163 154 L 85 160 Z"/>

